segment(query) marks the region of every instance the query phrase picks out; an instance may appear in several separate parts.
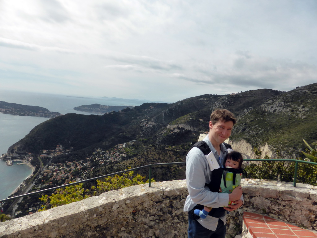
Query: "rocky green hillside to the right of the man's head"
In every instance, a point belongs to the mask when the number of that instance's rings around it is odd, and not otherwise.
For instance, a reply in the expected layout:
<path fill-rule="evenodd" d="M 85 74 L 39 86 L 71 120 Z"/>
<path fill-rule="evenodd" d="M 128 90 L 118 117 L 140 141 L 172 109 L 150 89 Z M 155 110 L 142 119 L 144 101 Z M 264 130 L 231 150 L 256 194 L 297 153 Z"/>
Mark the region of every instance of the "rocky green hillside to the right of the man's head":
<path fill-rule="evenodd" d="M 317 83 L 268 99 L 239 115 L 231 140 L 244 139 L 253 147 L 264 143 L 294 158 L 304 149 L 302 138 L 317 139 Z"/>

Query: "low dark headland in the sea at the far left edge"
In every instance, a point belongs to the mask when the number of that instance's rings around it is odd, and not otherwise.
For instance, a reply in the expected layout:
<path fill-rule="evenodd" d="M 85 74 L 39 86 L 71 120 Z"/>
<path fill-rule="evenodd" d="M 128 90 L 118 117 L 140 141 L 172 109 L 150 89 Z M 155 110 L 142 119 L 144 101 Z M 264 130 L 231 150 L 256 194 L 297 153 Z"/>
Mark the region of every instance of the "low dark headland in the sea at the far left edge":
<path fill-rule="evenodd" d="M 0 112 L 17 116 L 39 116 L 54 118 L 61 116 L 59 112 L 51 112 L 46 108 L 38 106 L 28 106 L 17 103 L 0 101 Z"/>

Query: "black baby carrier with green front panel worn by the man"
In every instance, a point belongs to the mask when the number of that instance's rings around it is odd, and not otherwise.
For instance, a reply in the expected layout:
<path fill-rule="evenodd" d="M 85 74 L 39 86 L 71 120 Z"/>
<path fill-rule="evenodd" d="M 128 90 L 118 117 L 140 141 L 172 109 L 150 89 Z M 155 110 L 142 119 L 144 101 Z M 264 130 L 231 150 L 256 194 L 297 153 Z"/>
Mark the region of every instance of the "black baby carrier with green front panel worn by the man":
<path fill-rule="evenodd" d="M 224 146 L 226 149 L 232 149 L 227 143 L 223 143 L 221 146 Z M 193 147 L 200 149 L 204 155 L 208 155 L 211 152 L 208 144 L 204 141 L 195 143 L 192 148 Z M 243 169 L 221 168 L 218 164 L 216 168 L 217 169 L 212 170 L 210 183 L 205 184 L 211 192 L 231 193 L 234 188 L 240 185 Z M 203 205 L 198 204 L 192 209 L 192 211 L 195 209 L 202 210 L 203 208 Z M 212 208 L 208 215 L 219 218 L 224 216 L 225 212 L 226 210 L 222 207 Z"/>

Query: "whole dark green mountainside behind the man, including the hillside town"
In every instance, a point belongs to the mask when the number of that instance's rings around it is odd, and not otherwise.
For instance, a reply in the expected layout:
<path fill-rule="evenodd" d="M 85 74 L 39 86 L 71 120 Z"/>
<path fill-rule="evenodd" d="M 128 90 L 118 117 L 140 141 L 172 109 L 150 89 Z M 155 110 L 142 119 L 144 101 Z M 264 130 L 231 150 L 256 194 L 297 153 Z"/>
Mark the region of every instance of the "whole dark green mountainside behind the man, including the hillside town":
<path fill-rule="evenodd" d="M 49 170 L 35 179 L 32 191 L 128 167 L 184 162 L 199 134 L 208 133 L 210 113 L 226 108 L 238 119 L 231 142 L 245 140 L 252 147 L 267 144 L 272 151 L 296 158 L 305 149 L 302 137 L 310 144 L 317 140 L 316 94 L 317 83 L 289 92 L 258 89 L 222 96 L 206 94 L 170 104 L 144 103 L 102 116 L 66 114 L 36 126 L 8 153 L 42 154 L 45 150 L 46 155 L 53 155 L 41 157 Z M 34 158 L 34 164 L 40 162 Z M 148 178 L 149 170 L 136 173 Z M 156 181 L 184 179 L 184 174 L 181 165 L 152 169 Z M 84 186 L 91 185 L 96 184 Z M 32 204 L 39 205 L 38 195 L 24 199 L 18 209 L 28 214 Z"/>

